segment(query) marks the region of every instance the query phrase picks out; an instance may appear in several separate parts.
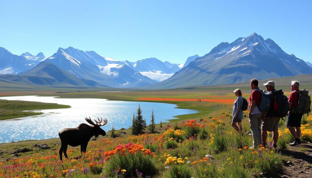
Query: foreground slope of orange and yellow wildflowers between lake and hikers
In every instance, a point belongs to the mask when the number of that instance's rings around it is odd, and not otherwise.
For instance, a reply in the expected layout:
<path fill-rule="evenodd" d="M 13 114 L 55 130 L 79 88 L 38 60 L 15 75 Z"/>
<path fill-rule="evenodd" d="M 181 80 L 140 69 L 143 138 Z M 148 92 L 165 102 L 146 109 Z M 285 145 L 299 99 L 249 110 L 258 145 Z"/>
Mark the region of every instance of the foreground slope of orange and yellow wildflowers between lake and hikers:
<path fill-rule="evenodd" d="M 288 143 L 293 141 L 285 121 L 280 121 L 277 149 L 270 146 L 271 133 L 268 134 L 266 148 L 259 145 L 250 149 L 252 137 L 247 133 L 250 131 L 246 117 L 248 111 L 244 112 L 244 135 L 241 135 L 231 126 L 233 97 L 228 103 L 220 103 L 224 96 L 214 96 L 219 102 L 202 98 L 202 102 L 197 102 L 197 99 L 174 100 L 200 113 L 163 123 L 162 127 L 158 124 L 158 133 L 134 136 L 127 132 L 116 138 L 108 133 L 90 141 L 85 153 L 80 153 L 80 147 L 69 147 L 67 155 L 70 159 L 63 161 L 59 159 L 59 148 L 44 153 L 22 154 L 0 162 L 0 178 L 243 178 L 252 177 L 254 173 L 272 176 L 282 171 L 283 161 L 289 159 L 283 152 L 290 149 Z M 301 140 L 311 142 L 312 116 L 305 116 L 301 130 Z"/>

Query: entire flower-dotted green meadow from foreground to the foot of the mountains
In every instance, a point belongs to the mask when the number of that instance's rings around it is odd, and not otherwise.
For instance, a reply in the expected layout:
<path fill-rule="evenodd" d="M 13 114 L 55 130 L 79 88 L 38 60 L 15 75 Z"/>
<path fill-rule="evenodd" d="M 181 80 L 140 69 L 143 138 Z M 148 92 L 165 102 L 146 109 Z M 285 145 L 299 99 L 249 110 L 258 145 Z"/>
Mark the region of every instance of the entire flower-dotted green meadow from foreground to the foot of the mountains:
<path fill-rule="evenodd" d="M 195 109 L 199 113 L 176 116 L 178 119 L 170 120 L 162 125 L 157 124 L 157 133 L 154 134 L 149 134 L 146 128 L 146 134 L 134 136 L 131 135 L 130 129 L 126 129 L 115 131 L 118 137 L 112 138 L 109 132 L 105 137 L 100 136 L 97 140 L 90 141 L 87 152 L 83 154 L 80 154 L 80 147 L 68 147 L 67 154 L 70 159 L 63 159 L 63 162 L 59 160 L 59 138 L 2 143 L 0 144 L 0 178 L 243 178 L 255 175 L 261 177 L 261 173 L 270 177 L 278 176 L 283 172 L 282 165 L 292 160 L 290 156 L 284 154 L 292 149 L 288 143 L 293 141 L 293 137 L 286 129 L 285 121 L 281 120 L 279 124 L 277 149 L 270 146 L 248 148 L 252 145 L 252 137 L 247 133 L 250 131 L 246 117 L 248 111 L 244 112 L 242 121 L 244 135 L 238 134 L 231 126 L 232 107 L 236 99 L 232 91 L 242 88 L 243 96 L 249 98 L 251 89 L 247 85 L 249 83 L 242 84 L 242 87 L 237 84 L 222 86 L 223 88 L 220 87 L 220 89 L 207 86 L 121 92 L 63 90 L 57 93 L 56 91 L 18 91 L 16 93 L 14 91 L 15 94 L 61 98 L 104 98 L 172 103 L 177 104 L 178 108 Z M 307 88 L 310 87 L 309 83 L 306 85 Z M 289 96 L 290 89 L 287 90 L 289 88 L 287 86 L 285 84 L 282 88 L 287 92 L 286 96 Z M 197 99 L 201 99 L 201 102 Z M 19 105 L 16 106 L 19 107 Z M 144 108 L 142 110 L 144 112 Z M 302 124 L 301 140 L 311 142 L 312 116 L 305 116 Z M 272 142 L 271 136 L 269 133 L 267 145 Z M 51 148 L 47 150 L 32 148 L 35 143 L 46 143 Z M 20 156 L 12 156 L 11 152 L 18 148 L 23 148 L 26 152 L 19 153 Z M 7 158 L 10 159 L 6 161 Z"/>

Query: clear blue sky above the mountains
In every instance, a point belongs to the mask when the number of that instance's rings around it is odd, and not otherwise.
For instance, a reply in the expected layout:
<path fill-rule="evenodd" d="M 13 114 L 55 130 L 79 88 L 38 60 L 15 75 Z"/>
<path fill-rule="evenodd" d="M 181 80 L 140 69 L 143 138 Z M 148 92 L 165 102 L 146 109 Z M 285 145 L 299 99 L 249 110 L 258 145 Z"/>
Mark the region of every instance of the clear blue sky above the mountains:
<path fill-rule="evenodd" d="M 311 1 L 0 1 L 0 46 L 46 56 L 59 47 L 117 60 L 184 63 L 253 32 L 312 62 Z"/>

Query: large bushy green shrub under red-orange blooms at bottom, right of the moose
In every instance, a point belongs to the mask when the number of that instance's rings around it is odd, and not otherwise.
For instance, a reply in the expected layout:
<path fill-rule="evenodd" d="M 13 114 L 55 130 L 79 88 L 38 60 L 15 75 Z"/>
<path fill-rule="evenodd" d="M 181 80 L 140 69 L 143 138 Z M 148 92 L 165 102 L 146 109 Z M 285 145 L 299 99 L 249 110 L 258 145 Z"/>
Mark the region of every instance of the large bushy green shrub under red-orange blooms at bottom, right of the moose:
<path fill-rule="evenodd" d="M 146 156 L 141 152 L 137 153 L 127 153 L 127 154 L 116 154 L 110 156 L 110 160 L 105 165 L 105 174 L 110 174 L 114 172 L 116 167 L 120 170 L 126 170 L 124 172 L 124 177 L 137 176 L 137 172 L 142 173 L 142 177 L 154 176 L 157 174 L 157 169 L 155 166 L 155 158 L 153 156 Z M 119 175 L 122 172 L 120 171 Z"/>

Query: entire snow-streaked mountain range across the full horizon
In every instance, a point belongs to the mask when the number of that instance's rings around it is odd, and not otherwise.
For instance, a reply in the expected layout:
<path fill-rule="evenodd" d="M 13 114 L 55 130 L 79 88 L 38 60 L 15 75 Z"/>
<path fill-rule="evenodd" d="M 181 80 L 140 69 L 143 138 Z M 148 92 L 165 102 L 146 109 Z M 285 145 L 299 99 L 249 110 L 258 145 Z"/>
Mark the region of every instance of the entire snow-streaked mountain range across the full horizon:
<path fill-rule="evenodd" d="M 309 62 L 286 54 L 273 40 L 256 33 L 222 42 L 202 57 L 190 56 L 184 65 L 157 58 L 115 60 L 73 47 L 59 48 L 50 57 L 41 52 L 18 56 L 0 47 L 0 79 L 27 84 L 161 89 L 310 73 Z"/>

